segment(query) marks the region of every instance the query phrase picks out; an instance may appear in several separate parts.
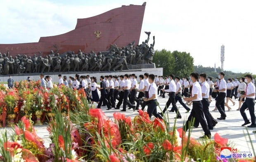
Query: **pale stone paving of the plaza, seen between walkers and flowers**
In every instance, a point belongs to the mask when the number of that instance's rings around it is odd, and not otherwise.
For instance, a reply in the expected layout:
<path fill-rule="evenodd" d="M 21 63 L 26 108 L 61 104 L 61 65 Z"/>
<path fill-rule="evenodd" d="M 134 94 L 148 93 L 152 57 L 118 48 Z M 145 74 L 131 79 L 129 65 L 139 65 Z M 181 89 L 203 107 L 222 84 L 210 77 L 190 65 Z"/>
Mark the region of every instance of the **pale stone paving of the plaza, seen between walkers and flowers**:
<path fill-rule="evenodd" d="M 161 97 L 158 98 L 159 104 L 161 108 L 164 108 L 166 102 L 168 100 L 168 96 L 166 95 L 165 99 L 162 99 Z M 230 106 L 232 110 L 226 111 L 227 117 L 226 120 L 218 120 L 218 124 L 214 127 L 213 130 L 211 130 L 212 138 L 214 139 L 214 134 L 218 132 L 220 136 L 229 139 L 229 142 L 232 144 L 231 146 L 233 148 L 237 148 L 240 151 L 253 151 L 251 143 L 249 141 L 249 136 L 251 137 L 251 140 L 253 142 L 253 147 L 256 149 L 256 134 L 253 133 L 253 130 L 256 130 L 256 128 L 248 128 L 249 135 L 247 134 L 246 128 L 242 127 L 241 125 L 244 123 L 242 116 L 240 115 L 240 112 L 236 109 L 238 108 L 238 101 L 235 100 L 235 106 Z M 232 105 L 232 103 L 230 103 Z M 96 106 L 96 105 L 95 105 Z M 190 113 L 186 113 L 185 108 L 183 108 L 180 103 L 177 103 L 178 108 L 180 108 L 180 113 L 182 115 L 182 119 L 177 119 L 176 125 L 178 128 L 183 126 L 183 123 L 187 120 L 187 117 Z M 122 106 L 121 106 L 122 107 Z M 147 108 L 147 107 L 146 107 Z M 220 117 L 220 113 L 218 111 L 212 111 L 215 108 L 215 101 L 213 100 L 210 105 L 210 113 L 213 115 L 214 118 Z M 112 118 L 114 112 L 120 112 L 120 110 L 111 109 L 106 110 L 107 108 L 102 106 L 103 112 L 107 115 L 107 117 Z M 159 109 L 159 108 L 158 108 Z M 169 108 L 168 110 L 170 110 Z M 192 109 L 192 106 L 190 106 L 190 109 Z M 226 108 L 227 110 L 228 108 Z M 160 111 L 160 110 L 158 110 Z M 135 115 L 138 115 L 137 111 L 133 112 L 133 110 L 127 110 L 126 112 L 122 112 L 126 116 L 135 117 Z M 246 110 L 247 116 L 250 119 L 249 111 Z M 165 114 L 166 115 L 166 114 Z M 170 126 L 173 126 L 174 123 L 174 117 L 175 113 L 169 113 L 168 117 L 170 121 Z M 38 136 L 44 139 L 45 146 L 49 146 L 49 134 L 46 130 L 47 125 L 44 124 L 42 126 L 35 126 L 35 129 L 37 131 Z M 6 127 L 6 129 L 11 132 L 11 128 Z M 0 131 L 3 131 L 4 129 L 1 128 Z M 202 136 L 204 134 L 203 130 L 201 129 L 201 126 L 199 125 L 198 128 L 194 128 L 192 130 L 192 137 L 195 139 L 198 139 L 199 136 Z"/>

